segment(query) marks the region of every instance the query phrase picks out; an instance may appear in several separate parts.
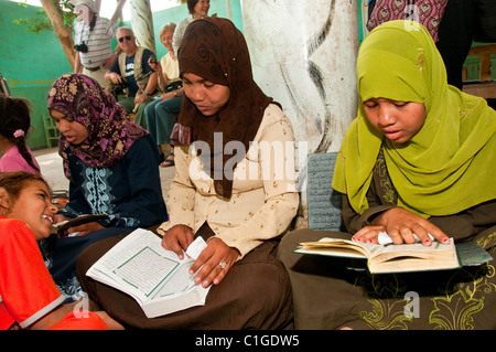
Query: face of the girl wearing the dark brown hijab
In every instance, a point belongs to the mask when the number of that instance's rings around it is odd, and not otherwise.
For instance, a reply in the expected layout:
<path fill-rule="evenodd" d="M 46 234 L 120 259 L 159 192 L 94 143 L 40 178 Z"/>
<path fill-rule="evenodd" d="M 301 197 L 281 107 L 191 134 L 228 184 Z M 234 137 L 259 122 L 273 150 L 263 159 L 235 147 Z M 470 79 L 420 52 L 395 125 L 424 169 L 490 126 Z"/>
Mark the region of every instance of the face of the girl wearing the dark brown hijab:
<path fill-rule="evenodd" d="M 229 100 L 230 89 L 192 73 L 183 74 L 184 94 L 204 116 L 217 114 Z"/>

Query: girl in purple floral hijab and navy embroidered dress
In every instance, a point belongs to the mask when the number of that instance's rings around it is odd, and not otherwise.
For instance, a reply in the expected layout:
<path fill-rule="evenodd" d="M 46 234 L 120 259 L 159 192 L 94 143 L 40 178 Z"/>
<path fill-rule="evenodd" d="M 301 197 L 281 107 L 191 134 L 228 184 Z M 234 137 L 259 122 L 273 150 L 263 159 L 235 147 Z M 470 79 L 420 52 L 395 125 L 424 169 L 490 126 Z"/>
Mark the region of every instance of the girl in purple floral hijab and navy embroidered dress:
<path fill-rule="evenodd" d="M 129 120 L 114 96 L 87 76 L 66 74 L 48 93 L 48 109 L 61 132 L 58 153 L 69 180 L 69 202 L 57 222 L 82 214 L 107 220 L 68 228 L 57 238 L 50 270 L 68 297 L 78 298 L 79 253 L 96 241 L 168 220 L 150 135 Z"/>

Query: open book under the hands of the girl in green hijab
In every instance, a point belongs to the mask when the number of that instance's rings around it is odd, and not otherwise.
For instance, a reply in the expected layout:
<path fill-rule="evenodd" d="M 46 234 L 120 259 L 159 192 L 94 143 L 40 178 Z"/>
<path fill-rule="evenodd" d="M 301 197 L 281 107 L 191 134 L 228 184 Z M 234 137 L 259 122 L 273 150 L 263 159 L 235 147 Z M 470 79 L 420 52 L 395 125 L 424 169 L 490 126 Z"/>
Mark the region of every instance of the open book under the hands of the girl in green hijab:
<path fill-rule="evenodd" d="M 463 250 L 456 250 L 453 238 L 449 245 L 434 241 L 431 246 L 424 246 L 421 243 L 379 245 L 324 237 L 317 242 L 301 243 L 294 252 L 367 259 L 368 269 L 373 274 L 454 269 L 465 263 L 478 265 L 492 259 L 492 256 L 475 243 L 459 245 Z"/>

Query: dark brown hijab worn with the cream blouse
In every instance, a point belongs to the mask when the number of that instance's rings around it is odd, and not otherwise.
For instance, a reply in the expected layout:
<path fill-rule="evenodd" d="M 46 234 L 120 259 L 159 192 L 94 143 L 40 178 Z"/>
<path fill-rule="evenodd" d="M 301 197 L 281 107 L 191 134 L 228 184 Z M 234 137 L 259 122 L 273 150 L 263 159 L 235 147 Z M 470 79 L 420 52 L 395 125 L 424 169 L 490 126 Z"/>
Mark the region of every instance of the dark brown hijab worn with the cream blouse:
<path fill-rule="evenodd" d="M 255 83 L 245 38 L 229 20 L 206 18 L 193 21 L 183 36 L 177 57 L 181 76 L 192 73 L 230 89 L 229 100 L 214 116 L 205 117 L 187 98 L 183 99 L 179 115 L 179 124 L 191 130 L 192 142 L 208 143 L 211 153 L 203 150 L 202 161 L 211 166 L 206 171 L 214 179 L 216 193 L 229 199 L 233 182 L 222 171 L 227 160 L 234 157 L 223 153 L 222 158 L 214 158 L 214 134 L 223 134 L 223 150 L 228 142 L 240 141 L 247 151 L 272 98 L 266 96 Z M 190 140 L 179 140 L 176 143 L 188 145 Z M 215 164 L 217 160 L 222 160 L 223 164 Z M 239 161 L 236 160 L 236 163 Z M 214 177 L 219 172 L 222 179 Z"/>

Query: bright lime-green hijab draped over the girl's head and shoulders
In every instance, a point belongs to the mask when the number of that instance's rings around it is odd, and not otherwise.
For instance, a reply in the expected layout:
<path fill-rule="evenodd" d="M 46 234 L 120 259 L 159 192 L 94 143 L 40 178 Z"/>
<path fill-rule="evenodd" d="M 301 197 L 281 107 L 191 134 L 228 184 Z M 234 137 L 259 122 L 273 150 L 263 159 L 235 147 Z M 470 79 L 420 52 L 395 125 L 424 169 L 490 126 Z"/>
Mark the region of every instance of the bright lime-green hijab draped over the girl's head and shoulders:
<path fill-rule="evenodd" d="M 384 150 L 398 206 L 423 217 L 456 214 L 496 199 L 496 113 L 483 98 L 448 85 L 444 63 L 429 32 L 417 22 L 376 28 L 358 52 L 358 116 L 341 147 L 333 188 L 362 214 L 373 169 Z M 401 145 L 368 121 L 370 98 L 423 103 L 422 128 Z"/>

